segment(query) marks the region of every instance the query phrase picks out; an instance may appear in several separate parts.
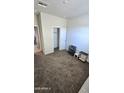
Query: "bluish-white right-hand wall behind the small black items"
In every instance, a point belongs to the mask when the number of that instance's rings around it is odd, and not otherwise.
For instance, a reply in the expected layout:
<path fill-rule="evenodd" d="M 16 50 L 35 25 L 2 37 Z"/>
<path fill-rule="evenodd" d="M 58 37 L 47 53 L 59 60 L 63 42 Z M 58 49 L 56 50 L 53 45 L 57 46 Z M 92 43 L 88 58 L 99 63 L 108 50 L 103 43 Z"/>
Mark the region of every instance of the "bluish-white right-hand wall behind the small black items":
<path fill-rule="evenodd" d="M 67 42 L 69 45 L 77 46 L 77 50 L 89 53 L 89 16 L 84 15 L 67 20 Z"/>

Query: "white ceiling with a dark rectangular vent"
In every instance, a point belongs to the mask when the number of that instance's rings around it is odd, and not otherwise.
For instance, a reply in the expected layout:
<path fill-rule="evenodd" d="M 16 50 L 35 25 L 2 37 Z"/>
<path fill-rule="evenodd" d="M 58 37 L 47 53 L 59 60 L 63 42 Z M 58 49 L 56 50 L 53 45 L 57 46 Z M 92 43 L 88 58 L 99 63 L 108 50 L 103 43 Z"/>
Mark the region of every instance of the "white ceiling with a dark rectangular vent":
<path fill-rule="evenodd" d="M 43 8 L 38 5 L 38 1 L 48 6 Z M 34 0 L 34 12 L 35 14 L 45 12 L 63 18 L 73 18 L 89 14 L 89 0 Z"/>

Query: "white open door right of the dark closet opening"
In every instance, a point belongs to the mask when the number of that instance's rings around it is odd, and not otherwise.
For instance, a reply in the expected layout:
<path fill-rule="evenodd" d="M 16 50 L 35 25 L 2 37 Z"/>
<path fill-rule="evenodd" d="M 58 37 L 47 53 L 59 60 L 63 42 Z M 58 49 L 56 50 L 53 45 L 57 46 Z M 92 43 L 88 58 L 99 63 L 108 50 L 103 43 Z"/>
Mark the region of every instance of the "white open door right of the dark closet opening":
<path fill-rule="evenodd" d="M 60 28 L 59 50 L 66 48 L 66 28 Z"/>

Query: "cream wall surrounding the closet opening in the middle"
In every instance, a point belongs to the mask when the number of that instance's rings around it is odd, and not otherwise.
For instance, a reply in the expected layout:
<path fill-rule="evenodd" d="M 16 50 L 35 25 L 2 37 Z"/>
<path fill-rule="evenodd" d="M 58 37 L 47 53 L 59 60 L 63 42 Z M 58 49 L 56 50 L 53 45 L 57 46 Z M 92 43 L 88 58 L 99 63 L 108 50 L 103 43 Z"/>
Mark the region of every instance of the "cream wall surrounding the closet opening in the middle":
<path fill-rule="evenodd" d="M 61 30 L 60 33 L 66 31 L 66 19 L 56 17 L 43 12 L 40 13 L 40 16 L 42 20 L 41 24 L 42 24 L 43 42 L 44 42 L 43 51 L 45 54 L 49 54 L 54 52 L 54 38 L 53 38 L 54 28 L 59 27 Z"/>

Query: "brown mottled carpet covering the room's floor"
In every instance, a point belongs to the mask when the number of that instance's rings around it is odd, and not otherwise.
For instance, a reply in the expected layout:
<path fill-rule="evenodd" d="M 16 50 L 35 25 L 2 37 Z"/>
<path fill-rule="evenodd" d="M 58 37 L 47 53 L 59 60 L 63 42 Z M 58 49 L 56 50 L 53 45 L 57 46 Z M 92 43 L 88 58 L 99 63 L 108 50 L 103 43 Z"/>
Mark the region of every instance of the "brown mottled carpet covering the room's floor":
<path fill-rule="evenodd" d="M 66 51 L 34 56 L 34 93 L 78 93 L 89 76 L 89 64 Z"/>

